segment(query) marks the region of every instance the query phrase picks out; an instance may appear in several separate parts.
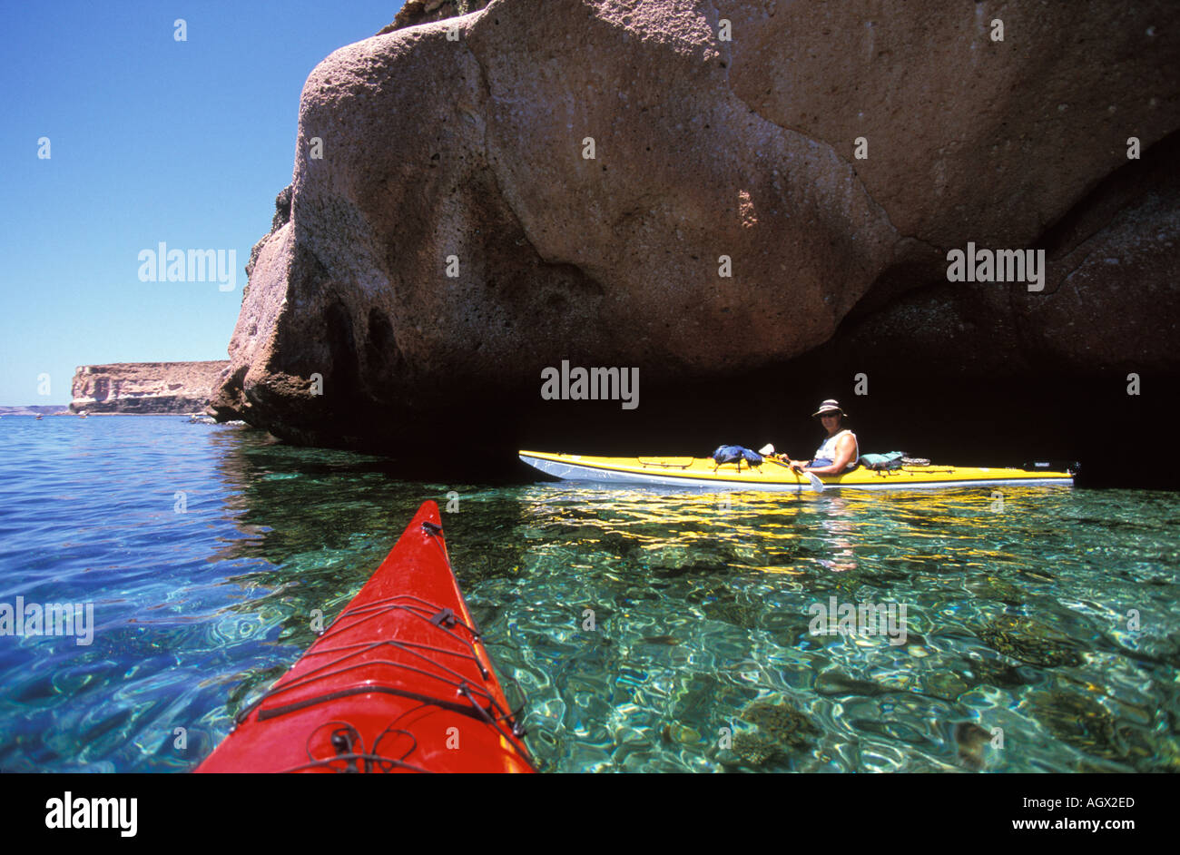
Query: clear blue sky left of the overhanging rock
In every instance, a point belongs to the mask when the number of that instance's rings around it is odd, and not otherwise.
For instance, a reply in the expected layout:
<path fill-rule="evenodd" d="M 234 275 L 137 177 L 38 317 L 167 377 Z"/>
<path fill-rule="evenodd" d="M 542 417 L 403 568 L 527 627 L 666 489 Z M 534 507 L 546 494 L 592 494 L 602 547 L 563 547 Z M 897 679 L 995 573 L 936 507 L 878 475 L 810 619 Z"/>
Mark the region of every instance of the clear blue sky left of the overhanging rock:
<path fill-rule="evenodd" d="M 227 359 L 242 268 L 290 182 L 303 81 L 400 8 L 2 4 L 0 405 L 67 403 L 80 364 Z M 160 242 L 235 250 L 236 287 L 142 282 L 139 252 Z"/>

